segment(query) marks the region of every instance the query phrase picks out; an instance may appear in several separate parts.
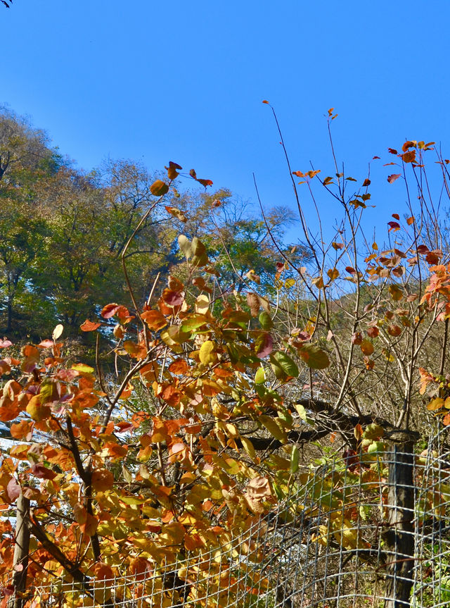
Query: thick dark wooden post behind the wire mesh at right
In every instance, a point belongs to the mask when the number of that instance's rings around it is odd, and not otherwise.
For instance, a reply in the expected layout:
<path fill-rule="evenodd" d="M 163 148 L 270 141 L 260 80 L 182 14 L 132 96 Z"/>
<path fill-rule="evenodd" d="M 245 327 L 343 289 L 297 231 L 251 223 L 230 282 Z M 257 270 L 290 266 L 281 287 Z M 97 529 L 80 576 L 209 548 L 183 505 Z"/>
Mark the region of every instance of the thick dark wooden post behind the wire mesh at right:
<path fill-rule="evenodd" d="M 386 557 L 385 608 L 410 606 L 414 565 L 414 481 L 412 441 L 391 444 L 389 509 L 383 533 Z"/>

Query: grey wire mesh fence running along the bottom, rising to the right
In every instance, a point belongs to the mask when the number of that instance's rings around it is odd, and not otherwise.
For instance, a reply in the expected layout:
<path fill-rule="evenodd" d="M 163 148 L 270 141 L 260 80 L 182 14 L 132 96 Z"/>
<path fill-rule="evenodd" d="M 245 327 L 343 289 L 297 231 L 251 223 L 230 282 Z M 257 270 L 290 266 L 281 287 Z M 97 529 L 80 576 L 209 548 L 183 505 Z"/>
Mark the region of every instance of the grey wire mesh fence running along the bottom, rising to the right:
<path fill-rule="evenodd" d="M 347 608 L 450 604 L 450 452 L 442 431 L 293 474 L 276 509 L 219 547 L 137 560 L 81 585 L 27 581 L 10 607 Z M 414 453 L 416 452 L 416 453 Z"/>

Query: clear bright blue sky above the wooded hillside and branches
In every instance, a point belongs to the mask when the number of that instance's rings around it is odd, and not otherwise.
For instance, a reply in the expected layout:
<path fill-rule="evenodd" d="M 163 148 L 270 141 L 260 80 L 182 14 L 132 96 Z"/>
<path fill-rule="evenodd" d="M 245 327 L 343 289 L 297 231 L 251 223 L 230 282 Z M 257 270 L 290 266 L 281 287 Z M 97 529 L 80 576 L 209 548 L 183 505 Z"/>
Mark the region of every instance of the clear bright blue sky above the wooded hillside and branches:
<path fill-rule="evenodd" d="M 14 0 L 0 6 L 0 102 L 82 168 L 108 155 L 151 170 L 173 160 L 252 200 L 254 171 L 264 204 L 293 204 L 262 100 L 293 169 L 332 170 L 331 106 L 357 178 L 404 139 L 450 149 L 449 23 L 449 0 Z M 383 218 L 388 188 L 374 200 Z"/>

